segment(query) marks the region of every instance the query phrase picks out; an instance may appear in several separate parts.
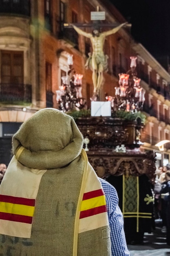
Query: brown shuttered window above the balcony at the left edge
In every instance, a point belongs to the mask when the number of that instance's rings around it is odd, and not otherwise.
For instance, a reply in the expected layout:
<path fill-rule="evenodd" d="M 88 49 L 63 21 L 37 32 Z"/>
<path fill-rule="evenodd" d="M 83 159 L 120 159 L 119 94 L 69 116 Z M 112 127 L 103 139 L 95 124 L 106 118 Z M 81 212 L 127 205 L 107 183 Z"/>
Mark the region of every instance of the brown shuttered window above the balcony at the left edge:
<path fill-rule="evenodd" d="M 1 51 L 1 83 L 24 83 L 23 52 Z"/>

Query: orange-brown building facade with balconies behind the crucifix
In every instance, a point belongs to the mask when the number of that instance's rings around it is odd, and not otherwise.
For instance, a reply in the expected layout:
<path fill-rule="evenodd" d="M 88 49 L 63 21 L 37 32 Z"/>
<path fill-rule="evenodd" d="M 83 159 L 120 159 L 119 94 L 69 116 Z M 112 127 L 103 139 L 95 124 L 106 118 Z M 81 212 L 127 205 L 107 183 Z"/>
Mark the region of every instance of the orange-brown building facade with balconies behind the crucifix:
<path fill-rule="evenodd" d="M 110 29 L 109 24 L 126 22 L 107 0 L 0 0 L 0 162 L 9 163 L 11 136 L 22 122 L 41 108 L 58 108 L 56 90 L 69 70 L 70 55 L 76 73 L 83 75 L 82 94 L 91 106 L 92 71 L 84 67 L 91 42 L 64 24 L 94 24 L 91 12 L 97 10 L 106 16 L 95 21 L 105 25 L 102 31 Z M 84 30 L 91 33 L 91 27 Z M 170 139 L 170 74 L 133 40 L 129 28 L 106 37 L 104 52 L 109 58 L 101 100 L 106 94 L 114 96 L 119 73 L 129 69 L 130 56 L 137 56 L 138 75 L 146 90 L 141 149 L 159 152 L 155 144 Z M 168 146 L 163 152 L 167 161 Z"/>

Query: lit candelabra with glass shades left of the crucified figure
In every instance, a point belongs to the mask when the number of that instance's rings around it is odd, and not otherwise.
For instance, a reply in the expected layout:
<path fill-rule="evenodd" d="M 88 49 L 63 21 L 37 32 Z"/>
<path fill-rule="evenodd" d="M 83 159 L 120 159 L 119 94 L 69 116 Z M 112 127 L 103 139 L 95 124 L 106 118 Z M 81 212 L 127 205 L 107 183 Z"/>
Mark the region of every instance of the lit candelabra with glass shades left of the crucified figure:
<path fill-rule="evenodd" d="M 86 100 L 82 97 L 82 74 L 76 74 L 73 66 L 73 55 L 67 56 L 68 72 L 62 76 L 62 85 L 56 91 L 58 108 L 67 112 L 86 107 Z"/>

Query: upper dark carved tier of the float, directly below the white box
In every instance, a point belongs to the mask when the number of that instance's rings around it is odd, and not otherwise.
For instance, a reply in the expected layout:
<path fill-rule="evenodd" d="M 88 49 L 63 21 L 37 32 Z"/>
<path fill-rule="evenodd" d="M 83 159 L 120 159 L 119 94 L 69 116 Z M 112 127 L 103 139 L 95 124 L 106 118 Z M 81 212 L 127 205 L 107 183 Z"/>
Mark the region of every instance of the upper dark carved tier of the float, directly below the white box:
<path fill-rule="evenodd" d="M 139 136 L 136 121 L 125 121 L 112 117 L 79 118 L 76 123 L 84 137 L 90 139 L 88 148 L 115 148 L 125 144 L 130 148 L 138 147 Z M 142 125 L 141 125 L 142 126 Z"/>

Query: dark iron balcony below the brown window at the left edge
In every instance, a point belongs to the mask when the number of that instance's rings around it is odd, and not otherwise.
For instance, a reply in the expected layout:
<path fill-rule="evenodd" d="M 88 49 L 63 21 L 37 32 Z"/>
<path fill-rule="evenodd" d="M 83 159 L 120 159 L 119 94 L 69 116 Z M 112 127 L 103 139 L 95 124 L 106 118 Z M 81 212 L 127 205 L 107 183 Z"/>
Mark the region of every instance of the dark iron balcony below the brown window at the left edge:
<path fill-rule="evenodd" d="M 0 104 L 30 105 L 31 102 L 31 85 L 0 83 Z"/>

